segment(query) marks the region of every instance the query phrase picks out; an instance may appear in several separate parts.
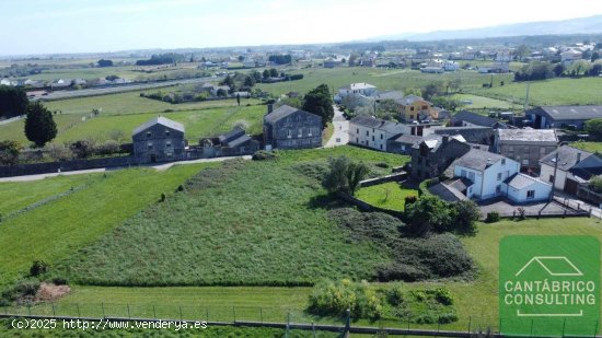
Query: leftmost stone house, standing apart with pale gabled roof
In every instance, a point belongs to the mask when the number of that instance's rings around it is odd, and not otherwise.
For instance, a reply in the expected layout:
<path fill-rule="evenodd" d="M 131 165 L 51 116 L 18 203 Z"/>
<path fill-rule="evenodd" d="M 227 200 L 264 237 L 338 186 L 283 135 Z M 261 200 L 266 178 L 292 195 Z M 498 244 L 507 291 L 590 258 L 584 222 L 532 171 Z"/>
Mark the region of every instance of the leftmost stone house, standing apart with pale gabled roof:
<path fill-rule="evenodd" d="M 134 129 L 134 158 L 139 163 L 184 159 L 184 126 L 159 116 Z"/>

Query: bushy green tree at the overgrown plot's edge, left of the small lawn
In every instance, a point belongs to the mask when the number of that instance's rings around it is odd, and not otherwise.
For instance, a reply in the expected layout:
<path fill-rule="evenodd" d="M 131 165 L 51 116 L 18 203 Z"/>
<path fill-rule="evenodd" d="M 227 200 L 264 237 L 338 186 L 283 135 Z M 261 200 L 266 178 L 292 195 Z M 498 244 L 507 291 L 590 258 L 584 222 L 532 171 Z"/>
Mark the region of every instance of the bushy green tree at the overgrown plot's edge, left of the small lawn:
<path fill-rule="evenodd" d="M 328 166 L 328 173 L 324 176 L 322 185 L 331 193 L 354 195 L 359 188 L 359 183 L 370 172 L 366 164 L 352 162 L 347 156 L 329 159 Z"/>

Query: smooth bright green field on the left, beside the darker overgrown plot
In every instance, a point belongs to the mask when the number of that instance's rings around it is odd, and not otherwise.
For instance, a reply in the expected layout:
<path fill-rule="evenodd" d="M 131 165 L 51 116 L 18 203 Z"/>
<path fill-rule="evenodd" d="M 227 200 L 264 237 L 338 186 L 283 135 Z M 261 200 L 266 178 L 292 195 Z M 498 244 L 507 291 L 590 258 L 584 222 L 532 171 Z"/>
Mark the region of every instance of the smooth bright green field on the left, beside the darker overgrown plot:
<path fill-rule="evenodd" d="M 72 194 L 2 221 L 0 285 L 28 271 L 32 261 L 50 264 L 90 245 L 126 219 L 172 191 L 187 177 L 209 164 L 180 165 L 165 172 L 151 168 L 121 170 L 104 174 L 46 178 L 30 183 L 0 183 L 3 210 L 19 210 L 45 198 L 80 187 Z M 215 165 L 215 164 L 210 164 Z M 30 196 L 22 196 L 27 194 Z"/>

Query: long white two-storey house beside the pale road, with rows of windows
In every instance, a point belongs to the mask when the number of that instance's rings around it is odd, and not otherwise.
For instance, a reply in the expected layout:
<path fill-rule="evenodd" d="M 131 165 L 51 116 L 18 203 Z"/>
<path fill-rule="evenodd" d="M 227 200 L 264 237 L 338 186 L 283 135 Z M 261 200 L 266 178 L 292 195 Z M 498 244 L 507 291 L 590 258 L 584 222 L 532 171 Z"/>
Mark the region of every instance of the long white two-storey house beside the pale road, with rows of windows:
<path fill-rule="evenodd" d="M 349 143 L 386 151 L 386 141 L 404 132 L 404 125 L 356 116 L 349 121 Z"/>

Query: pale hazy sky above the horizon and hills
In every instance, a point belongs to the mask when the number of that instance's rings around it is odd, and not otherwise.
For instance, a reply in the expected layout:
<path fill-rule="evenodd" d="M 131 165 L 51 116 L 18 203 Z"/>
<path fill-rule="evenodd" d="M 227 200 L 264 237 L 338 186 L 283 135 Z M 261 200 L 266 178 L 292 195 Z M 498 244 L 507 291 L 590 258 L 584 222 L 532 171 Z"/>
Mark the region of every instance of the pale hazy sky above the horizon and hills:
<path fill-rule="evenodd" d="M 602 1 L 0 0 L 0 55 L 319 44 L 602 14 Z"/>

